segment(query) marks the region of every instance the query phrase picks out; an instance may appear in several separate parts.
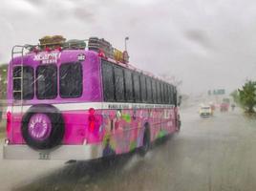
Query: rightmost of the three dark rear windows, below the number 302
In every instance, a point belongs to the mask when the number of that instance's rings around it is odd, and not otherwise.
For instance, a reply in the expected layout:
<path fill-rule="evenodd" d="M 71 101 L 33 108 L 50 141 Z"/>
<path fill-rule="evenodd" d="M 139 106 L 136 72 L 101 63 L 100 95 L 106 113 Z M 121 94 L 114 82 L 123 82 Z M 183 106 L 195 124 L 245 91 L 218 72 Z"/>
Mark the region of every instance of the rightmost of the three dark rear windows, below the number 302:
<path fill-rule="evenodd" d="M 59 91 L 63 98 L 82 96 L 83 75 L 82 65 L 79 62 L 65 63 L 60 66 Z"/>

